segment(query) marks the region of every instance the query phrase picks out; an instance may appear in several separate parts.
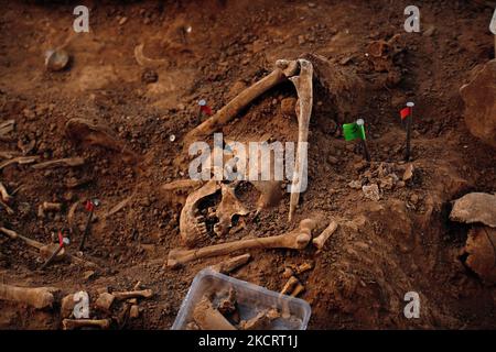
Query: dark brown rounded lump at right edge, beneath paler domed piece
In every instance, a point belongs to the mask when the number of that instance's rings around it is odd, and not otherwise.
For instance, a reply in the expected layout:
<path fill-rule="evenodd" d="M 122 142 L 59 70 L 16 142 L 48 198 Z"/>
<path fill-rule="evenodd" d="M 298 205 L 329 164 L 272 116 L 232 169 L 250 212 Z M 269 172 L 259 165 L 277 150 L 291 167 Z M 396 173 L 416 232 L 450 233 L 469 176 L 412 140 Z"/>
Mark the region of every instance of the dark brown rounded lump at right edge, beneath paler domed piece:
<path fill-rule="evenodd" d="M 496 284 L 496 229 L 475 227 L 465 245 L 465 264 L 490 286 Z"/>

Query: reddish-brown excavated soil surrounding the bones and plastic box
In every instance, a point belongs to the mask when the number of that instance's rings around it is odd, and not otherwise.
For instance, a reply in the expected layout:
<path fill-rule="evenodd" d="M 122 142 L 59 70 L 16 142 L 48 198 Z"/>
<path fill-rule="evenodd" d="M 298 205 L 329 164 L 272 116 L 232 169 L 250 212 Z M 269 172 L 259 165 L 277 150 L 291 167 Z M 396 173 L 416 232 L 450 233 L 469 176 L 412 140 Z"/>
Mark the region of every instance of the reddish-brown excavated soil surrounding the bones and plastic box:
<path fill-rule="evenodd" d="M 66 50 L 71 66 L 58 73 L 44 67 L 45 51 L 72 36 L 75 4 L 1 1 L 0 122 L 14 119 L 11 141 L 0 151 L 26 151 L 43 161 L 83 156 L 86 165 L 51 170 L 30 165 L 6 167 L 0 182 L 14 195 L 14 215 L 0 209 L 0 226 L 40 242 L 67 227 L 65 211 L 75 201 L 98 197 L 98 221 L 85 254 L 99 263 L 95 271 L 66 262 L 41 272 L 37 253 L 0 237 L 0 279 L 20 286 L 55 286 L 64 294 L 86 290 L 91 302 L 103 287 L 128 290 L 140 282 L 155 293 L 139 302 L 142 314 L 128 329 L 169 329 L 195 274 L 222 258 L 208 258 L 180 270 L 164 267 L 168 252 L 181 246 L 180 205 L 158 191 L 161 185 L 186 178 L 187 163 L 174 163 L 182 136 L 197 124 L 197 100 L 222 108 L 242 87 L 267 75 L 276 59 L 320 54 L 352 67 L 369 84 L 360 117 L 368 124 L 370 166 L 337 128 L 344 119 L 326 94 L 315 88 L 309 150 L 309 188 L 301 196 L 293 224 L 288 223 L 289 195 L 276 209 L 230 239 L 271 235 L 291 230 L 308 217 L 343 219 L 325 249 L 251 251 L 254 260 L 233 275 L 280 290 L 284 266 L 314 262 L 300 275 L 301 298 L 312 306 L 310 329 L 474 329 L 496 326 L 496 288 L 468 272 L 459 254 L 467 227 L 449 221 L 451 201 L 467 191 L 496 189 L 496 153 L 474 139 L 463 122 L 459 88 L 470 70 L 494 57 L 487 31 L 492 11 L 475 1 L 422 1 L 421 26 L 431 35 L 406 33 L 408 1 L 185 1 L 158 4 L 128 1 L 90 6 L 90 33 L 74 35 Z M 127 20 L 122 20 L 126 18 Z M 191 33 L 182 35 L 185 26 Z M 378 72 L 365 56 L 373 41 L 401 34 L 400 52 Z M 163 58 L 153 72 L 139 66 L 133 51 Z M 157 82 L 150 82 L 158 76 Z M 294 140 L 295 116 L 281 111 L 281 100 L 294 97 L 283 85 L 258 99 L 225 134 L 258 140 L 271 134 Z M 384 187 L 379 201 L 365 199 L 347 186 L 381 182 L 405 168 L 405 132 L 398 111 L 416 101 L 413 165 L 416 175 L 402 187 Z M 127 146 L 141 155 L 139 166 L 119 153 L 82 147 L 64 135 L 71 118 L 110 127 Z M 174 134 L 176 140 L 170 141 Z M 32 142 L 34 141 L 34 142 Z M 30 147 L 30 142 L 34 143 Z M 386 173 L 386 174 L 385 174 Z M 90 182 L 68 189 L 68 178 Z M 122 210 L 104 218 L 133 195 Z M 62 202 L 61 213 L 37 217 L 43 201 Z M 83 215 L 79 221 L 84 223 Z M 224 238 L 222 241 L 228 241 Z M 71 252 L 79 238 L 73 238 Z M 214 239 L 219 242 L 219 239 Z M 406 319 L 403 296 L 418 292 L 420 319 Z M 119 316 L 91 310 L 93 317 Z M 0 328 L 58 329 L 60 309 L 34 310 L 0 301 Z M 117 327 L 115 323 L 112 327 Z"/>

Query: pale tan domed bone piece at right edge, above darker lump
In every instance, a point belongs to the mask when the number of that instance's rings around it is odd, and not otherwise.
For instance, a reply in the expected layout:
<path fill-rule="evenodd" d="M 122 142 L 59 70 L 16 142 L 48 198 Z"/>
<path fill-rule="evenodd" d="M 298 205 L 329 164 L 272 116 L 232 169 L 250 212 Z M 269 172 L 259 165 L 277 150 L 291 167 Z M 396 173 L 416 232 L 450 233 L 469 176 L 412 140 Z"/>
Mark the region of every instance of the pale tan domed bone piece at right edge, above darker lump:
<path fill-rule="evenodd" d="M 456 199 L 450 213 L 452 221 L 482 222 L 496 228 L 496 196 L 472 193 Z"/>

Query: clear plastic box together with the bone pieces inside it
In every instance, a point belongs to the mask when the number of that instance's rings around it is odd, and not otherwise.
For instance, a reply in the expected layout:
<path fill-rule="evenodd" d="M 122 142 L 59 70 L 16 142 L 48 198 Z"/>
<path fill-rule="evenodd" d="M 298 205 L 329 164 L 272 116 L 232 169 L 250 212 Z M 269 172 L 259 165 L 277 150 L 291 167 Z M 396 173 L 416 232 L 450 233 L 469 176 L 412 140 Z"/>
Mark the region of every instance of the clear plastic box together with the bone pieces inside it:
<path fill-rule="evenodd" d="M 236 311 L 233 316 L 219 314 L 222 309 L 218 310 L 218 306 L 225 299 L 224 294 L 235 296 Z M 220 317 L 222 323 L 202 327 L 202 321 L 195 321 L 197 310 L 204 306 L 205 299 L 211 300 L 209 308 Z M 267 330 L 305 330 L 310 315 L 310 305 L 302 299 L 281 295 L 206 268 L 195 276 L 171 329 L 216 330 L 215 327 L 223 329 L 222 327 L 226 324 L 234 329 L 249 329 L 250 326 L 258 329 L 257 322 L 263 320 L 263 329 Z M 268 318 L 259 319 L 263 316 Z M 211 317 L 211 321 L 213 320 L 218 322 L 217 317 Z"/>

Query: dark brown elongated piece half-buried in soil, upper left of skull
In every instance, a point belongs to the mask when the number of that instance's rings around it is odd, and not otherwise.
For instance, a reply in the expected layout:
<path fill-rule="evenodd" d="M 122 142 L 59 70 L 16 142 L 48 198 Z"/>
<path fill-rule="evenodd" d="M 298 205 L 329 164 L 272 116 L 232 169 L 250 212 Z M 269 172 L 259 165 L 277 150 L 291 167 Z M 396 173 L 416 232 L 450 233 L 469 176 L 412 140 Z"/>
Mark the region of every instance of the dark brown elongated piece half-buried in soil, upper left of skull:
<path fill-rule="evenodd" d="M 68 120 L 65 124 L 65 134 L 69 140 L 85 145 L 99 145 L 122 153 L 123 160 L 128 163 L 138 162 L 138 155 L 112 136 L 107 128 L 94 124 L 88 120 L 77 118 Z"/>

